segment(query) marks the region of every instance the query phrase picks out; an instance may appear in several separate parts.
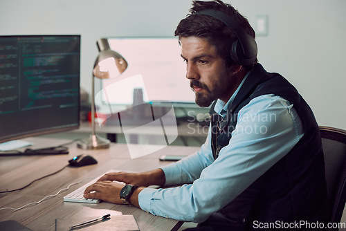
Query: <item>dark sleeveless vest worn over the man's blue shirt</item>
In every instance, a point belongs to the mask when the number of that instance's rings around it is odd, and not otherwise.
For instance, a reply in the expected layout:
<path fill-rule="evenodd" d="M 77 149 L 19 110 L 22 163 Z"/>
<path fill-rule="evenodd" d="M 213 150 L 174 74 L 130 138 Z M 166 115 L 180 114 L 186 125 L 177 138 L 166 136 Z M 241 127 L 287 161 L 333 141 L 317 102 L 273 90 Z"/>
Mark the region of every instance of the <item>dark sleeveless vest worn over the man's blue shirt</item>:
<path fill-rule="evenodd" d="M 212 104 L 213 155 L 217 158 L 219 151 L 228 145 L 239 110 L 253 98 L 266 94 L 280 95 L 293 103 L 302 120 L 304 136 L 289 154 L 226 207 L 209 217 L 206 223 L 215 230 L 259 230 L 257 224 L 260 222 L 325 221 L 327 190 L 318 124 L 309 105 L 281 75 L 267 73 L 256 64 L 230 105 L 227 118 L 219 124 L 215 103 Z"/>

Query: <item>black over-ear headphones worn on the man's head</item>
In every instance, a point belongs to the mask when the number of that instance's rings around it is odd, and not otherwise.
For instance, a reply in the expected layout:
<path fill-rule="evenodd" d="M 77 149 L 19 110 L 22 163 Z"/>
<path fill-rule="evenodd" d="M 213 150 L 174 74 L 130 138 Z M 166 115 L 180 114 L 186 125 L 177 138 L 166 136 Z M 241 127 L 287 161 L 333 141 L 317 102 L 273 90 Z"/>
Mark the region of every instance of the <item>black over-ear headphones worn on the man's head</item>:
<path fill-rule="evenodd" d="M 219 10 L 211 9 L 201 10 L 195 14 L 209 15 L 215 19 L 219 19 L 235 33 L 237 40 L 233 42 L 230 48 L 230 55 L 234 59 L 235 64 L 247 66 L 255 62 L 257 57 L 257 44 L 255 39 L 251 35 L 248 35 L 248 33 L 246 33 L 230 16 Z"/>

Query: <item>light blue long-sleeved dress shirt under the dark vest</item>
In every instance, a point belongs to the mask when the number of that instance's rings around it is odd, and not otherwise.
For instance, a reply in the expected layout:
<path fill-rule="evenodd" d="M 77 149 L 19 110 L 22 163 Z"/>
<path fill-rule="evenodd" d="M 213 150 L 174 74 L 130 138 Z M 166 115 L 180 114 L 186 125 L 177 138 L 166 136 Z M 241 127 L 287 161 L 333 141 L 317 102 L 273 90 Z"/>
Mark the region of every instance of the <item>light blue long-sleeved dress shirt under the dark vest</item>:
<path fill-rule="evenodd" d="M 242 84 L 226 104 L 218 100 L 217 113 L 226 111 Z M 145 188 L 138 195 L 140 208 L 179 221 L 205 221 L 289 153 L 303 135 L 293 104 L 277 95 L 254 98 L 237 118 L 232 138 L 217 160 L 212 156 L 209 129 L 197 153 L 162 168 L 165 185 L 184 185 Z"/>

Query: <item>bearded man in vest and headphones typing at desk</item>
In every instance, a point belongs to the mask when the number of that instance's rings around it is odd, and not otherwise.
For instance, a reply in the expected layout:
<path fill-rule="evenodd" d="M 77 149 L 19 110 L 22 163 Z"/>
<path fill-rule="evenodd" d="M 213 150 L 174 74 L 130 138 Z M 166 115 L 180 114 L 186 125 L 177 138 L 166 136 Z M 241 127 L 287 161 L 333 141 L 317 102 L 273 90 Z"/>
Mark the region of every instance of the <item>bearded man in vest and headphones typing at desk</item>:
<path fill-rule="evenodd" d="M 251 41 L 255 33 L 237 10 L 215 0 L 194 1 L 190 12 L 175 35 L 197 104 L 213 102 L 206 143 L 196 154 L 161 169 L 102 176 L 84 196 L 127 201 L 155 215 L 197 222 L 201 230 L 325 221 L 324 160 L 311 109 L 281 75 L 257 63 Z M 224 14 L 235 25 L 225 22 Z M 248 45 L 236 44 L 246 37 L 237 25 L 251 36 L 245 38 Z M 246 54 L 230 52 L 233 44 Z M 147 188 L 177 184 L 184 185 Z"/>

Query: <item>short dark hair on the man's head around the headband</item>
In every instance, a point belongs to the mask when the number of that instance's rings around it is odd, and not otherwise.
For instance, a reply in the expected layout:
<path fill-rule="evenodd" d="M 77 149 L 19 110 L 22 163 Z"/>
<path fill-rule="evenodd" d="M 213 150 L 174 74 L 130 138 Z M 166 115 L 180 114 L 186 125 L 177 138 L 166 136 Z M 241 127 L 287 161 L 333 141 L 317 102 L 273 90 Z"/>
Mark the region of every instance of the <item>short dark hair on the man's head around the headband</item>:
<path fill-rule="evenodd" d="M 230 57 L 230 48 L 237 36 L 223 22 L 208 15 L 196 15 L 200 10 L 213 9 L 219 10 L 232 17 L 246 33 L 255 38 L 255 31 L 248 23 L 248 19 L 239 14 L 233 6 L 224 3 L 220 0 L 214 1 L 193 1 L 190 14 L 180 21 L 174 32 L 175 36 L 181 37 L 200 37 L 207 39 L 208 42 L 217 48 L 217 53 L 225 60 L 226 66 L 233 64 L 233 59 Z M 253 65 L 247 68 L 252 68 Z"/>

